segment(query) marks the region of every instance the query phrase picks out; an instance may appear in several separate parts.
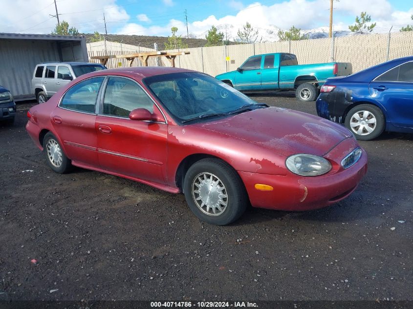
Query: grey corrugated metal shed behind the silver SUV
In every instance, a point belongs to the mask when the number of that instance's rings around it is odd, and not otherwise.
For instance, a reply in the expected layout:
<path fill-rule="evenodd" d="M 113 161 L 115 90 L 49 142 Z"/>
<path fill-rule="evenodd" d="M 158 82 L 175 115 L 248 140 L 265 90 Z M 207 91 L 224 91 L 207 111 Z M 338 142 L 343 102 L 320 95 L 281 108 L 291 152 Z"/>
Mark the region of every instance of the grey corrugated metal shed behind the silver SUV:
<path fill-rule="evenodd" d="M 65 43 L 0 39 L 0 85 L 9 89 L 14 97 L 34 96 L 31 81 L 36 64 L 48 61 L 84 61 L 80 41 L 73 41 L 73 49 L 70 42 L 66 46 L 60 46 L 61 44 Z"/>

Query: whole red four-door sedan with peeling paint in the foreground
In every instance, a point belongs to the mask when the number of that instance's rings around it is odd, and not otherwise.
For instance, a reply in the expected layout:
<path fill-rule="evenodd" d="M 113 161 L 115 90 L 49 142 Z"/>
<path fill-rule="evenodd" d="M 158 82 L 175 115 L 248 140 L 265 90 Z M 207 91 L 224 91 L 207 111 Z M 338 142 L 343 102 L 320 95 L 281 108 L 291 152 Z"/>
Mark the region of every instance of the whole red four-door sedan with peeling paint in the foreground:
<path fill-rule="evenodd" d="M 183 192 L 206 222 L 246 206 L 308 210 L 346 198 L 367 171 L 348 129 L 256 103 L 209 75 L 136 67 L 86 74 L 27 113 L 52 170 L 72 165 Z"/>

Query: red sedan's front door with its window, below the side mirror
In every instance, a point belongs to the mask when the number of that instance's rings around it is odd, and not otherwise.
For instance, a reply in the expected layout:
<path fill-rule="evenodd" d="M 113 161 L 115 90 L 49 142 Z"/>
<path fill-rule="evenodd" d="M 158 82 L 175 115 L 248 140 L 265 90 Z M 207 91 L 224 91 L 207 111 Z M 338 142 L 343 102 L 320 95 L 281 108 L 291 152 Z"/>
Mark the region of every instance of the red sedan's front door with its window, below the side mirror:
<path fill-rule="evenodd" d="M 116 174 L 164 183 L 168 125 L 162 115 L 160 121 L 130 120 L 136 108 L 161 115 L 137 82 L 110 77 L 96 118 L 100 165 Z"/>

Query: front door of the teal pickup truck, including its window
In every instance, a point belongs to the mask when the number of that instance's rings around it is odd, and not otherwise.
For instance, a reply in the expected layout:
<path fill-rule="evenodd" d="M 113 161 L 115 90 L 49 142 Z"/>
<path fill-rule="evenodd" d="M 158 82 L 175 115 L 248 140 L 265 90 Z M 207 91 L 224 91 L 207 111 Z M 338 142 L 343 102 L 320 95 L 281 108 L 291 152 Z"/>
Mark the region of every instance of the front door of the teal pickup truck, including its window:
<path fill-rule="evenodd" d="M 238 90 L 261 90 L 261 59 L 262 56 L 250 57 L 240 69 L 235 72 L 235 85 Z"/>

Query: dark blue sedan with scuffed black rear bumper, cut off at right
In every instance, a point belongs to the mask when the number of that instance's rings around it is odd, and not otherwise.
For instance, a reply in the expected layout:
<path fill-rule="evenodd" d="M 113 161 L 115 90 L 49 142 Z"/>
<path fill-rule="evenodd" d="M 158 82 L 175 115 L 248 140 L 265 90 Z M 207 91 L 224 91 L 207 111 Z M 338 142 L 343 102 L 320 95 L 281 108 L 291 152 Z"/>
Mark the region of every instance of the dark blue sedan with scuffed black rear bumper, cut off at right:
<path fill-rule="evenodd" d="M 385 130 L 413 133 L 413 56 L 327 79 L 316 107 L 320 117 L 344 124 L 358 140 Z"/>

